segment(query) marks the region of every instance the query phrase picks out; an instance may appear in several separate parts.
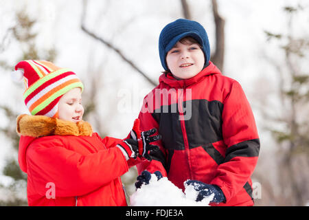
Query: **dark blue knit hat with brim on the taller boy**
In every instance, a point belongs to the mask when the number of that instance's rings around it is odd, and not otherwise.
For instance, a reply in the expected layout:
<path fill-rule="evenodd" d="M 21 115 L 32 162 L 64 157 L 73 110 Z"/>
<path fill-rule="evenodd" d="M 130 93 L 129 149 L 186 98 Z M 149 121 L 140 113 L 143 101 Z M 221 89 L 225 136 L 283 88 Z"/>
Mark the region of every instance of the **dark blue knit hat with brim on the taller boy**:
<path fill-rule="evenodd" d="M 166 54 L 174 47 L 177 41 L 186 36 L 192 36 L 202 46 L 205 55 L 204 67 L 207 67 L 210 59 L 210 47 L 205 29 L 196 21 L 177 19 L 166 25 L 159 36 L 159 55 L 162 67 L 165 70 L 168 70 L 168 65 L 165 62 Z"/>

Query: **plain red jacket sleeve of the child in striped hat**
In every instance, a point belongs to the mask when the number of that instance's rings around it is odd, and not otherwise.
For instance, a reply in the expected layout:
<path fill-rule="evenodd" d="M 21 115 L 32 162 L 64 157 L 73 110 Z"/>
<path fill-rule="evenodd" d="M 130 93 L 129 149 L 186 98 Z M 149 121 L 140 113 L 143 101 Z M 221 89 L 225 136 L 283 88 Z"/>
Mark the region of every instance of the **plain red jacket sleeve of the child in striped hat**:
<path fill-rule="evenodd" d="M 119 148 L 81 155 L 65 148 L 60 139 L 39 140 L 27 149 L 27 173 L 40 195 L 48 190 L 47 183 L 54 184 L 56 197 L 84 195 L 128 171 Z"/>

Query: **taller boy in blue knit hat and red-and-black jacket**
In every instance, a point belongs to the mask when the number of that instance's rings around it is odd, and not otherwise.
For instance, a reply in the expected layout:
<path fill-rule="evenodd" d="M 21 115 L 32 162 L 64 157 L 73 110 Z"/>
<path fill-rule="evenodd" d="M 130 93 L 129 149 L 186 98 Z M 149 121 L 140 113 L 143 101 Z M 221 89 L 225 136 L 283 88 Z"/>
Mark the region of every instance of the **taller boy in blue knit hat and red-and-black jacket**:
<path fill-rule="evenodd" d="M 139 119 L 141 129 L 155 127 L 162 135 L 160 151 L 137 165 L 136 186 L 147 184 L 151 172 L 183 190 L 194 185 L 196 201 L 214 195 L 214 206 L 253 206 L 250 177 L 260 141 L 240 84 L 209 61 L 207 33 L 196 21 L 166 25 L 159 55 L 165 72 L 144 99 Z"/>

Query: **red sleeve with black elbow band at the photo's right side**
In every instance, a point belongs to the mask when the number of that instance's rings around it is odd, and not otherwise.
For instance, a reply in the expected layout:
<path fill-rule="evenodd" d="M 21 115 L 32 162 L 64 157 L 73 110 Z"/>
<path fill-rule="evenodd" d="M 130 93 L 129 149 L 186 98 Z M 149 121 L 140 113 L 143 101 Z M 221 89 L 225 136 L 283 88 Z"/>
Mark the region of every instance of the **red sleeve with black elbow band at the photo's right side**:
<path fill-rule="evenodd" d="M 223 102 L 222 137 L 227 146 L 225 161 L 218 166 L 211 184 L 219 186 L 229 201 L 249 180 L 260 151 L 253 112 L 236 81 Z"/>

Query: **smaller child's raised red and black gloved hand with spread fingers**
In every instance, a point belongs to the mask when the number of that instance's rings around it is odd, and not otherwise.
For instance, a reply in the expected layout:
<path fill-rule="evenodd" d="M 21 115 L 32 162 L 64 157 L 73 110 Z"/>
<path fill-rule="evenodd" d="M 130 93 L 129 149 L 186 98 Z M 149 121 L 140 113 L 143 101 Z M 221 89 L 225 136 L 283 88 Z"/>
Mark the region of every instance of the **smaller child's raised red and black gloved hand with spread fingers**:
<path fill-rule="evenodd" d="M 155 142 L 157 140 L 161 139 L 161 135 L 153 135 L 157 132 L 157 129 L 150 129 L 148 131 L 141 131 L 139 129 L 140 121 L 139 119 L 135 119 L 133 129 L 130 133 L 130 137 L 133 140 L 136 140 L 138 142 L 138 151 L 139 156 L 144 157 L 148 160 L 151 160 L 151 157 L 149 155 L 149 151 L 155 152 L 159 151 L 159 146 L 150 144 L 151 142 Z M 153 135 L 153 136 L 151 136 Z"/>

